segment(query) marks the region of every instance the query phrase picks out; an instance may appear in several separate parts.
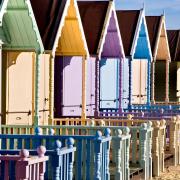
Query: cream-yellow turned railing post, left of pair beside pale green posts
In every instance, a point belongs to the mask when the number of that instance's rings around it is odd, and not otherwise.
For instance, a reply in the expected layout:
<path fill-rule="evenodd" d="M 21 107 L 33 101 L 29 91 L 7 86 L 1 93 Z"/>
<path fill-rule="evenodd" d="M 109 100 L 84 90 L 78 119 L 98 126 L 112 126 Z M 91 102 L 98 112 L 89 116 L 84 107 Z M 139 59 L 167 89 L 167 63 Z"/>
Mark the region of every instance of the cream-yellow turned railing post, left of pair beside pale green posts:
<path fill-rule="evenodd" d="M 159 131 L 160 131 L 160 122 L 153 121 L 153 142 L 152 142 L 153 176 L 160 175 Z"/>

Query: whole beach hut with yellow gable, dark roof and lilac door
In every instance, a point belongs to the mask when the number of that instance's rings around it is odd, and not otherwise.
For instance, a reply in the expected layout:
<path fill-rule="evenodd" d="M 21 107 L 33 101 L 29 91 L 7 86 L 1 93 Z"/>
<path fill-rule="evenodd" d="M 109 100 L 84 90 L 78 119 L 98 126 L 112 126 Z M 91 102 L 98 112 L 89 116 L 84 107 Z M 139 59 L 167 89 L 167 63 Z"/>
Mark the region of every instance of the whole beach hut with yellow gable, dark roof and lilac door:
<path fill-rule="evenodd" d="M 45 51 L 50 54 L 45 71 L 49 71 L 49 124 L 53 124 L 54 117 L 85 118 L 89 53 L 77 2 L 31 0 L 31 3 Z"/>

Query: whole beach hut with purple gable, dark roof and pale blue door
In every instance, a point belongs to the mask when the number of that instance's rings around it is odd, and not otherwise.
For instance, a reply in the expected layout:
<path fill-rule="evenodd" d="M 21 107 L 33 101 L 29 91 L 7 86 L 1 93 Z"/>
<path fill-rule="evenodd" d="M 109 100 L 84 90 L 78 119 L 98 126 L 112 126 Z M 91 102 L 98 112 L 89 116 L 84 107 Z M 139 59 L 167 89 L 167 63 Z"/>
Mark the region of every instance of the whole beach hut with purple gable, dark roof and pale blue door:
<path fill-rule="evenodd" d="M 99 107 L 121 108 L 124 51 L 112 1 L 78 1 L 78 7 L 90 52 L 87 115 L 97 116 Z"/>

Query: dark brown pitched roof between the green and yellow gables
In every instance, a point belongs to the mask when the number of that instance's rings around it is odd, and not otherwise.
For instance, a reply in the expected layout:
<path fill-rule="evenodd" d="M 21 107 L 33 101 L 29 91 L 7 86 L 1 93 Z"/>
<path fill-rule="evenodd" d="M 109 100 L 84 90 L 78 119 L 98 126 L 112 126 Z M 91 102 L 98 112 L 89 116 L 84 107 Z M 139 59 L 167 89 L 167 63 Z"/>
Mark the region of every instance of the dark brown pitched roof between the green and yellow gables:
<path fill-rule="evenodd" d="M 45 50 L 52 50 L 67 0 L 30 0 Z"/>

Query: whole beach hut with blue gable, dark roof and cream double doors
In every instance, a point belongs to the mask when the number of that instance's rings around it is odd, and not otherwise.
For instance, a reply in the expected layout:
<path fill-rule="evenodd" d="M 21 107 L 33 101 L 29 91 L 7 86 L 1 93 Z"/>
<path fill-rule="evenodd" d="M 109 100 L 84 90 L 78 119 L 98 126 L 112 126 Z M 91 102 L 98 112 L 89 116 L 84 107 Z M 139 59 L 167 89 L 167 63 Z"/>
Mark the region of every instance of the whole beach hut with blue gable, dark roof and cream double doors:
<path fill-rule="evenodd" d="M 150 105 L 152 54 L 145 11 L 117 10 L 126 61 L 123 64 L 123 108 Z"/>

